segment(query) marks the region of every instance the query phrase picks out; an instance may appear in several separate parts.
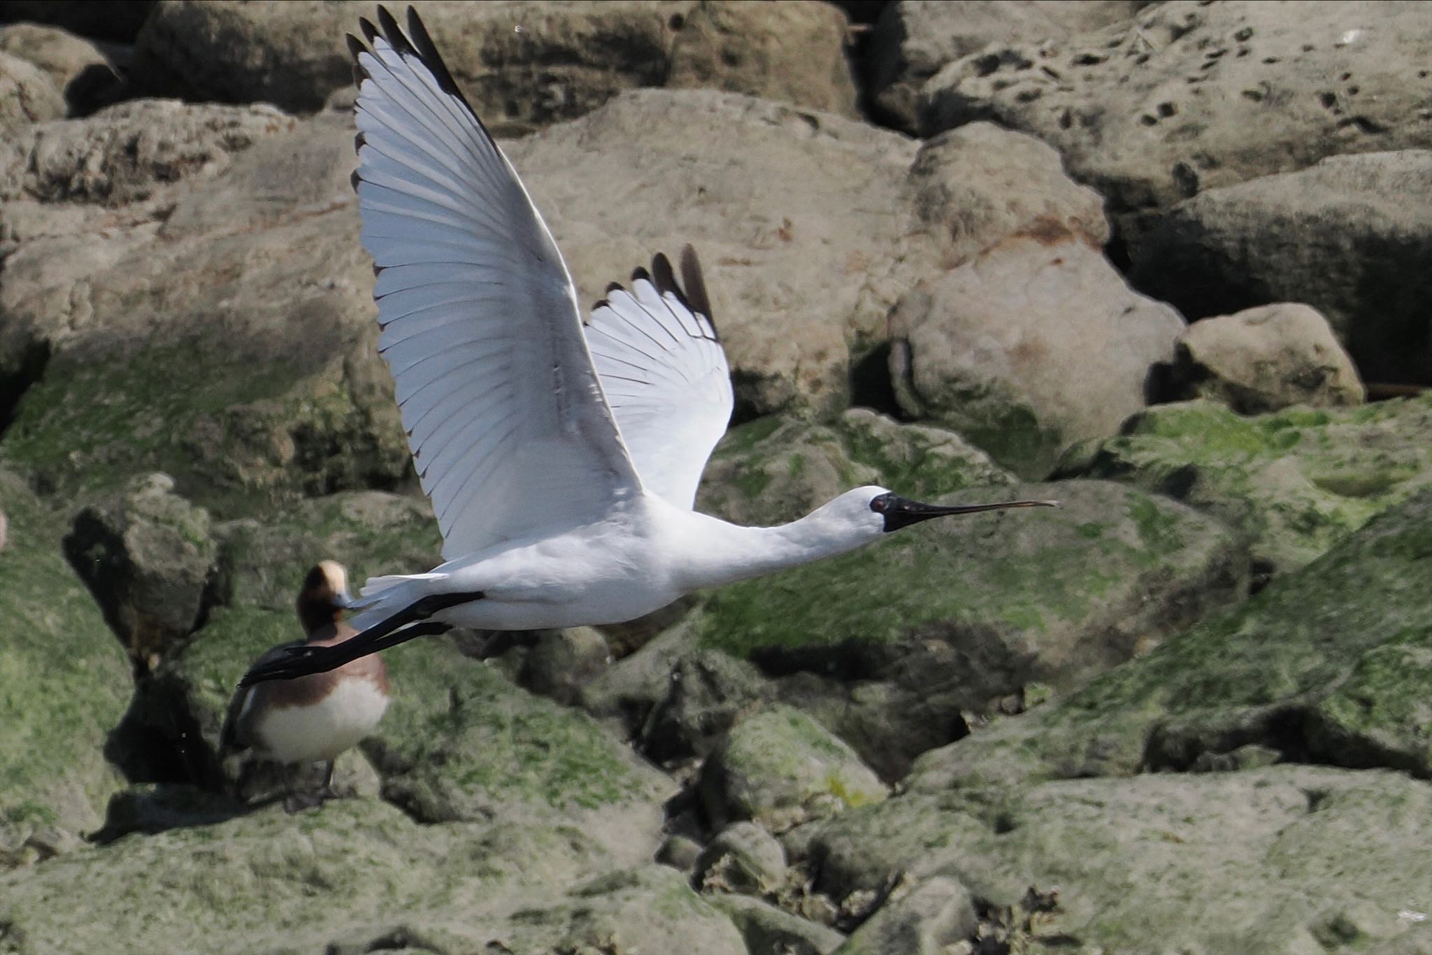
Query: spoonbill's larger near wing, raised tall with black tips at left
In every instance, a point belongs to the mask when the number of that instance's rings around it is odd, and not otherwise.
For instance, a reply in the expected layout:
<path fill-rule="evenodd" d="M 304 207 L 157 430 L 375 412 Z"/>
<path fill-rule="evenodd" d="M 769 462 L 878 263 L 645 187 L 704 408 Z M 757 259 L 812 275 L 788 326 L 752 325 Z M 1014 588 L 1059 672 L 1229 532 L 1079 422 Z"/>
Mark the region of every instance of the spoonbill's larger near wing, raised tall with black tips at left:
<path fill-rule="evenodd" d="M 587 352 L 576 289 L 422 21 L 378 9 L 357 63 L 362 243 L 378 349 L 448 560 L 558 531 L 642 490 Z"/>

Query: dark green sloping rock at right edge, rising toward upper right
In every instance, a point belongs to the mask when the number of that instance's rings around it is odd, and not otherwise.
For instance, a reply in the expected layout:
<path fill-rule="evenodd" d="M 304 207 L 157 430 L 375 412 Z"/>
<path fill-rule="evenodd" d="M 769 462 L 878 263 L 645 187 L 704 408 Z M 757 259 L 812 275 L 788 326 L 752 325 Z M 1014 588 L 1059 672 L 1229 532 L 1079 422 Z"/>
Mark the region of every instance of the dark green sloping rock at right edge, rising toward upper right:
<path fill-rule="evenodd" d="M 1429 553 L 1423 491 L 1057 706 L 927 753 L 911 786 L 1191 769 L 1250 745 L 1429 776 Z"/>

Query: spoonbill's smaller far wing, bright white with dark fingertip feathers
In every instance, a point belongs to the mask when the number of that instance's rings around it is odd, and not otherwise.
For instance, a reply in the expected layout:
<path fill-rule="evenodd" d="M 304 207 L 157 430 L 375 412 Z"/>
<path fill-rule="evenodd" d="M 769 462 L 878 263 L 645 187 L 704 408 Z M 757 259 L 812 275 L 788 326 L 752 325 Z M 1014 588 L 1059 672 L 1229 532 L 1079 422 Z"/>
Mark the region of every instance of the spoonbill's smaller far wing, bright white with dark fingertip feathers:
<path fill-rule="evenodd" d="M 664 255 L 607 286 L 587 319 L 587 346 L 643 485 L 690 508 L 712 448 L 730 422 L 730 368 L 716 338 L 692 246 L 683 289 Z"/>

